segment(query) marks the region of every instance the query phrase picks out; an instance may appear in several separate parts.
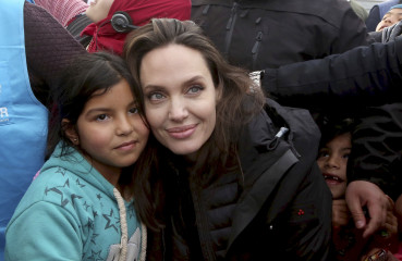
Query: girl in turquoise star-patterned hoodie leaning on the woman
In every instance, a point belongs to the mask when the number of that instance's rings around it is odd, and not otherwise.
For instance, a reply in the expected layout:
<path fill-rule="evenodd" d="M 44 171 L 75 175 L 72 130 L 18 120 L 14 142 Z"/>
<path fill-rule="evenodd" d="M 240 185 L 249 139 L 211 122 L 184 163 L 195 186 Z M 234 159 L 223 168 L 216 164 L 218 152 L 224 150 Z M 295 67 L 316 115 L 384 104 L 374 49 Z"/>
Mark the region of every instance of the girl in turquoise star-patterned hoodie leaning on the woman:
<path fill-rule="evenodd" d="M 5 261 L 145 260 L 146 228 L 134 210 L 133 169 L 148 127 L 124 60 L 86 53 L 54 91 L 52 152 L 5 232 Z"/>

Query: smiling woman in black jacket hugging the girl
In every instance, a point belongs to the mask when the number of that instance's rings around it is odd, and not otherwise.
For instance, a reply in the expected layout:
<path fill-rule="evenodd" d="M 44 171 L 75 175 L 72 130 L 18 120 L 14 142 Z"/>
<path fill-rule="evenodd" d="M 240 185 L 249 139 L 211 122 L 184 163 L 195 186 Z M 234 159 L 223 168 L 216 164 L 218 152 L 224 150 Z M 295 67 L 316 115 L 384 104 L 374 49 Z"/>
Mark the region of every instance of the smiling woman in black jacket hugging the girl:
<path fill-rule="evenodd" d="M 326 260 L 331 196 L 309 113 L 266 99 L 190 21 L 153 20 L 123 57 L 153 133 L 134 181 L 149 260 Z"/>

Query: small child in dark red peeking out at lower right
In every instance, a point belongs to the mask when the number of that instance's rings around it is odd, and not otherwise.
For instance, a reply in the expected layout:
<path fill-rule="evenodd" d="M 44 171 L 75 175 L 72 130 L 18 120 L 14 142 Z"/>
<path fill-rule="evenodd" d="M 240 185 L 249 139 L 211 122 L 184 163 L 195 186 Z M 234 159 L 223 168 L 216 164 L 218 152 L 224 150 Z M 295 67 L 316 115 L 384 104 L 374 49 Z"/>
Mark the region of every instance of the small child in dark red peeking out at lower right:
<path fill-rule="evenodd" d="M 363 238 L 362 232 L 354 227 L 344 198 L 354 121 L 332 119 L 322 122 L 317 163 L 332 194 L 333 260 L 366 260 L 375 254 L 388 256 L 387 260 L 398 260 L 392 254 L 398 250 L 398 222 L 393 210 L 388 211 L 387 223 L 381 231 L 369 238 Z M 392 199 L 389 200 L 393 204 Z"/>

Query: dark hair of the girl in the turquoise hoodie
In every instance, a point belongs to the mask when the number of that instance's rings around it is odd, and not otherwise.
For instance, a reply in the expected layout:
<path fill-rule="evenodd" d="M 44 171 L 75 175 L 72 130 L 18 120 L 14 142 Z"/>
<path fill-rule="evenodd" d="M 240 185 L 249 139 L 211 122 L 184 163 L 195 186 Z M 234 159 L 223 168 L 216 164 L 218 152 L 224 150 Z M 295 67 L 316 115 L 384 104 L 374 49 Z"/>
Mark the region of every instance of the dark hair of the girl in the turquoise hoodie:
<path fill-rule="evenodd" d="M 62 120 L 70 121 L 69 126 L 75 126 L 85 103 L 95 91 L 108 91 L 120 80 L 125 79 L 134 97 L 144 122 L 142 89 L 134 86 L 134 80 L 125 61 L 108 52 L 85 53 L 77 57 L 62 73 L 59 84 L 52 91 L 54 107 L 50 115 L 47 158 L 53 152 L 57 144 L 63 140 L 62 153 L 66 146 L 74 146 L 66 137 Z"/>

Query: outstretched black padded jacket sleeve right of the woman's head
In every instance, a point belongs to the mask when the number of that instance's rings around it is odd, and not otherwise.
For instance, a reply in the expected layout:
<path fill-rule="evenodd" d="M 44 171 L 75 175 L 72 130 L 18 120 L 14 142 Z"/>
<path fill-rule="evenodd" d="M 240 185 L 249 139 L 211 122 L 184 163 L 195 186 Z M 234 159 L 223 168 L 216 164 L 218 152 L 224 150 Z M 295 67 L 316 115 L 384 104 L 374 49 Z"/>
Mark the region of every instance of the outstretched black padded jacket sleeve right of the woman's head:
<path fill-rule="evenodd" d="M 402 40 L 267 69 L 261 87 L 282 104 L 346 109 L 401 100 Z"/>

